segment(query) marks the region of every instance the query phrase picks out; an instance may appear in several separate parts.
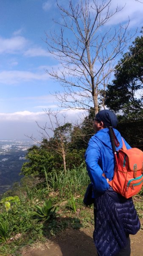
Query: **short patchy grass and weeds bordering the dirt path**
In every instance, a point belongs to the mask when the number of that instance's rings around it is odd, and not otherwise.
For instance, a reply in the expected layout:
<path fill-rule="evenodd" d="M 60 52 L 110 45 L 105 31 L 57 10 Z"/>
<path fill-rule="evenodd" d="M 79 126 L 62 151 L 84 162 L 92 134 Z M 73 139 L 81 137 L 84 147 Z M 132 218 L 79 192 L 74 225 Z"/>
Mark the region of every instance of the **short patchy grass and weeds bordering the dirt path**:
<path fill-rule="evenodd" d="M 66 228 L 80 229 L 81 227 L 89 227 L 89 224 L 86 225 L 86 222 L 91 222 L 89 217 L 91 209 L 84 207 L 83 204 L 79 204 L 77 201 L 76 206 L 80 211 L 73 212 L 73 210 L 67 208 L 67 204 L 59 205 L 59 216 L 57 215 L 56 218 L 40 222 L 31 218 L 34 206 L 30 201 L 25 201 L 23 206 L 18 205 L 11 209 L 8 212 L 8 228 L 13 227 L 13 230 L 9 240 L 1 244 L 0 255 L 17 255 L 17 251 L 20 251 L 20 248 L 25 245 L 35 241 L 45 242 Z M 2 216 L 4 217 L 5 215 L 6 213 L 3 212 Z M 20 234 L 20 237 L 15 239 L 17 234 Z"/>

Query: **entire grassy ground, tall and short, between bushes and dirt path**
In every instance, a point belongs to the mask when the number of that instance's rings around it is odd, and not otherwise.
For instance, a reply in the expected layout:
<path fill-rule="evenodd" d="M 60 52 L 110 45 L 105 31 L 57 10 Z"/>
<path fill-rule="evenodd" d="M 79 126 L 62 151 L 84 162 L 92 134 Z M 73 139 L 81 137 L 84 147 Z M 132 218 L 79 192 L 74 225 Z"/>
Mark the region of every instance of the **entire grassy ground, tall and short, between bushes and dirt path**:
<path fill-rule="evenodd" d="M 46 242 L 66 228 L 94 229 L 93 206 L 85 207 L 83 196 L 90 182 L 87 171 L 80 166 L 73 170 L 48 174 L 45 186 L 43 184 L 19 191 L 19 204 L 11 204 L 6 211 L 4 204 L 0 205 L 0 215 L 5 221 L 6 240 L 0 245 L 0 255 L 19 255 L 22 247 L 35 241 Z M 52 206 L 59 207 L 56 218 L 37 221 L 32 217 L 36 206 L 43 207 L 44 202 L 51 198 Z M 143 196 L 134 197 L 135 207 L 140 218 L 143 218 Z M 8 231 L 8 233 L 7 233 Z"/>

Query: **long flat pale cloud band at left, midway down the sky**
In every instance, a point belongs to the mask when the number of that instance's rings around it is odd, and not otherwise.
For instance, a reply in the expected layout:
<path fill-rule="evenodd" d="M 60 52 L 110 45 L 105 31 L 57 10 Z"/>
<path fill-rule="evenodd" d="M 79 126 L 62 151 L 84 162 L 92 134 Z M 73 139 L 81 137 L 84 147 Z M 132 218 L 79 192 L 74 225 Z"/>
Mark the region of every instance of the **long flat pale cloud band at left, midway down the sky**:
<path fill-rule="evenodd" d="M 1 71 L 0 72 L 0 83 L 1 84 L 18 84 L 21 81 L 45 81 L 48 80 L 49 76 L 47 73 L 32 73 L 29 71 Z"/>

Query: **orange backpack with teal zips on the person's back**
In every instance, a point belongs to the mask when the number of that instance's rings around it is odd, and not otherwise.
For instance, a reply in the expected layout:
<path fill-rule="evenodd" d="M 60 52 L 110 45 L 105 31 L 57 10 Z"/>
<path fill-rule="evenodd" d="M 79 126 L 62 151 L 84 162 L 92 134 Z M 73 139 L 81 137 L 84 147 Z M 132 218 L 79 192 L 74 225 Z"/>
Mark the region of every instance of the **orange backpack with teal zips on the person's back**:
<path fill-rule="evenodd" d="M 125 198 L 136 195 L 143 185 L 143 151 L 138 148 L 127 149 L 122 139 L 123 147 L 114 152 L 116 164 L 114 177 L 109 185 Z"/>

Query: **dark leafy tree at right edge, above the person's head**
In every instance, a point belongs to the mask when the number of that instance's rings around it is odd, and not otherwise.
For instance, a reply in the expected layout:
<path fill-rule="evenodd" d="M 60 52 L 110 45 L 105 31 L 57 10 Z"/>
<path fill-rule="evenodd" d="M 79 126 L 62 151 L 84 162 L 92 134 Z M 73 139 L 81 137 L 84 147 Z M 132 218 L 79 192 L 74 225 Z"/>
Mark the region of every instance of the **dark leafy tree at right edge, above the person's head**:
<path fill-rule="evenodd" d="M 130 120 L 142 118 L 143 35 L 135 39 L 115 68 L 115 79 L 107 87 L 105 104 L 115 112 L 122 111 Z"/>

